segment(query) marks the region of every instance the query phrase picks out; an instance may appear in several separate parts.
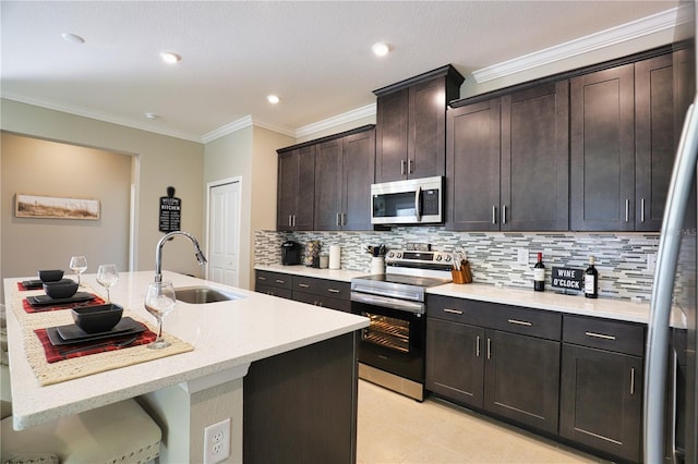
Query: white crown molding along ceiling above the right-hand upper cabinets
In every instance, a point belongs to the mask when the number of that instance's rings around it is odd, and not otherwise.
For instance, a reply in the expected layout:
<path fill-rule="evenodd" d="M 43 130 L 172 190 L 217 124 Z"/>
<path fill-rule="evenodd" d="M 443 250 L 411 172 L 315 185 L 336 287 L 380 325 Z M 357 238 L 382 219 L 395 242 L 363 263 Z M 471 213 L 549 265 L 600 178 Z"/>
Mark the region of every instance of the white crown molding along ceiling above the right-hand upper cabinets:
<path fill-rule="evenodd" d="M 555 61 L 562 61 L 601 48 L 674 28 L 676 25 L 688 21 L 687 16 L 687 7 L 673 8 L 641 20 L 622 24 L 586 37 L 473 71 L 472 76 L 479 84 L 482 84 Z"/>

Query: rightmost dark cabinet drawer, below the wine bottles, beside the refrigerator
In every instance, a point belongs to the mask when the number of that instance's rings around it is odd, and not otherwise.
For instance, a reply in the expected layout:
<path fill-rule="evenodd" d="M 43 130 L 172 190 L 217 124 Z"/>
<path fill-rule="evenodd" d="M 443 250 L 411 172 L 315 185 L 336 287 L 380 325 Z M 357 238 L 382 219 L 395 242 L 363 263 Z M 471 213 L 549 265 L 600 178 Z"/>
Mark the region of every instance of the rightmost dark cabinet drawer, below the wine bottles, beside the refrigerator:
<path fill-rule="evenodd" d="M 645 325 L 565 315 L 563 341 L 642 356 L 645 352 Z"/>

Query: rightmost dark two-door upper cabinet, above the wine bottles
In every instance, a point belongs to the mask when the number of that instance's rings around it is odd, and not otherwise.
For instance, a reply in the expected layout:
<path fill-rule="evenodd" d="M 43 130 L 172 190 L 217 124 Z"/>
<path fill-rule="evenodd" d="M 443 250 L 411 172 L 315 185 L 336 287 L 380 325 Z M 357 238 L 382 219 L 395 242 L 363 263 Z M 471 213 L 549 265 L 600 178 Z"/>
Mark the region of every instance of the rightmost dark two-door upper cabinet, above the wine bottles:
<path fill-rule="evenodd" d="M 671 54 L 571 80 L 571 230 L 660 230 L 675 148 L 673 80 Z"/>

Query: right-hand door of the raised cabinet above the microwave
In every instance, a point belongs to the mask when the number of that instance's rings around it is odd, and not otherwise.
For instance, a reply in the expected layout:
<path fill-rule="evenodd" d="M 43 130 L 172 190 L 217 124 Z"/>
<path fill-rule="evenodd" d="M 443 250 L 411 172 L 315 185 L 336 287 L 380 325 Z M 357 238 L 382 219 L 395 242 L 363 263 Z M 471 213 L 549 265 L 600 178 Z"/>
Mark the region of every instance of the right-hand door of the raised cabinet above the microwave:
<path fill-rule="evenodd" d="M 446 171 L 446 82 L 443 78 L 409 89 L 408 178 L 444 175 Z"/>

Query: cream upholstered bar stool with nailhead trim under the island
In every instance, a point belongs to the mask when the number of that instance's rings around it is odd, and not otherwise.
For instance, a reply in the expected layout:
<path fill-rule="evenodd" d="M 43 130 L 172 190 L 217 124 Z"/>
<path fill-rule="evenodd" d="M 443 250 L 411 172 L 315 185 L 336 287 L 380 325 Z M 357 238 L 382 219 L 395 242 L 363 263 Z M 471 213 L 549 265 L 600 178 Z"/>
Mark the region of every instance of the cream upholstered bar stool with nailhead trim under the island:
<path fill-rule="evenodd" d="M 2 463 L 147 463 L 160 453 L 160 428 L 135 400 L 26 430 L 0 420 Z"/>

